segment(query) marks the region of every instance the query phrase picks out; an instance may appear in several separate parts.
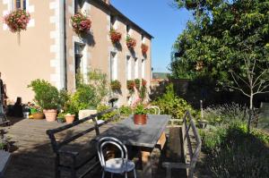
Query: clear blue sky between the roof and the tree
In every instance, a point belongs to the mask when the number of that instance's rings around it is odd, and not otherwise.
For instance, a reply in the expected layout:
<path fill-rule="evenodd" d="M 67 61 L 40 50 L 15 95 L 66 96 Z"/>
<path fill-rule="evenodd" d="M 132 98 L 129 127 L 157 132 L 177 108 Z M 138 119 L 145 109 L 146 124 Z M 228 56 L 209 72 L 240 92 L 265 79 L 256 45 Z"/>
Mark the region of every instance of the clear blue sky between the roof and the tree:
<path fill-rule="evenodd" d="M 192 14 L 172 7 L 173 0 L 110 0 L 121 13 L 154 37 L 153 72 L 169 72 L 170 52 L 178 35 L 186 28 Z"/>

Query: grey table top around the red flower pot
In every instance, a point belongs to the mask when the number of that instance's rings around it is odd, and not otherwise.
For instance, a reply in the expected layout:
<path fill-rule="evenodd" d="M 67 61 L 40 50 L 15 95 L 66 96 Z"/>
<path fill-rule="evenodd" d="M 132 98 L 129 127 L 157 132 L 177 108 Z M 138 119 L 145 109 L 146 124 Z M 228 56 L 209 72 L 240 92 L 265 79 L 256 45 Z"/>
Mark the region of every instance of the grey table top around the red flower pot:
<path fill-rule="evenodd" d="M 133 115 L 102 132 L 101 137 L 115 137 L 128 146 L 154 148 L 170 119 L 166 114 L 148 114 L 147 123 L 134 124 Z"/>

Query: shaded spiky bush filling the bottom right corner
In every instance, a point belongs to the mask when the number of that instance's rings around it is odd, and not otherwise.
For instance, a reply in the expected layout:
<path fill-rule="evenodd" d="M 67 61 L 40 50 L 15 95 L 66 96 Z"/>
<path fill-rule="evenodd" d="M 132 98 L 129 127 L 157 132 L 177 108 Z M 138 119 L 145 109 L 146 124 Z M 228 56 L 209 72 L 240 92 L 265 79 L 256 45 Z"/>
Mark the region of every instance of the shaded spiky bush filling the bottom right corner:
<path fill-rule="evenodd" d="M 207 150 L 206 165 L 213 177 L 267 177 L 269 148 L 265 137 L 268 135 L 248 134 L 246 123 L 205 131 L 203 148 Z"/>

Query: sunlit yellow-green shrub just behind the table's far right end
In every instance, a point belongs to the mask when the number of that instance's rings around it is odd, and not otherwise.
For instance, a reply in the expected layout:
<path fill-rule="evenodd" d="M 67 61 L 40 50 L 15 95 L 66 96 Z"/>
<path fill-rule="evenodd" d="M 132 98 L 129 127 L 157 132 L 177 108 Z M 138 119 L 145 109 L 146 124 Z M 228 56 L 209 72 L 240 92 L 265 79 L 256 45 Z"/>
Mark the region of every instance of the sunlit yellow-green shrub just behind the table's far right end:
<path fill-rule="evenodd" d="M 159 106 L 161 114 L 170 114 L 175 119 L 181 119 L 187 110 L 192 114 L 195 113 L 186 100 L 175 94 L 173 84 L 169 84 L 166 88 L 166 93 L 153 101 L 152 106 Z"/>

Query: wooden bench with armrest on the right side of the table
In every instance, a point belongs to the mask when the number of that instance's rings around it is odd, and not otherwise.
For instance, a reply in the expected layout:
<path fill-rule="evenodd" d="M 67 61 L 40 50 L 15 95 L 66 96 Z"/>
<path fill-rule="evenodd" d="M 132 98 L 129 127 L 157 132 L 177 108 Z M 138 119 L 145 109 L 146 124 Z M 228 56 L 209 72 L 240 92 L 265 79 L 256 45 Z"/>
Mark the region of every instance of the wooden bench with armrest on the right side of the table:
<path fill-rule="evenodd" d="M 192 115 L 187 111 L 183 117 L 182 127 L 171 127 L 169 134 L 170 138 L 173 137 L 172 140 L 168 141 L 168 144 L 172 146 L 169 151 L 173 153 L 172 157 L 174 158 L 162 163 L 162 166 L 166 168 L 166 177 L 171 177 L 171 169 L 187 169 L 187 177 L 192 178 L 202 146 Z M 175 160 L 180 157 L 182 160 Z"/>

